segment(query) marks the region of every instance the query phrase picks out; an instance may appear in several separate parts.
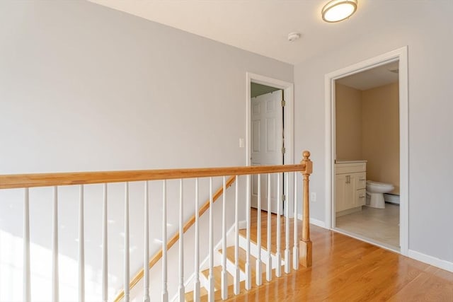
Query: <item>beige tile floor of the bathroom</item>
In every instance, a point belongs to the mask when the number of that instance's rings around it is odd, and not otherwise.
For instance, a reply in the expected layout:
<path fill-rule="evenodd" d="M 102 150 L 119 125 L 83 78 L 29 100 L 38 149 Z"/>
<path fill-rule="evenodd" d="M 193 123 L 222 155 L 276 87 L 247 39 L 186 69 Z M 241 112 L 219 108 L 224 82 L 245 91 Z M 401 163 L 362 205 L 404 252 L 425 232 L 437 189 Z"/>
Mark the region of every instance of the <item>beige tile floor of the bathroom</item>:
<path fill-rule="evenodd" d="M 399 249 L 398 205 L 386 203 L 385 209 L 362 207 L 362 211 L 337 217 L 336 227 Z"/>

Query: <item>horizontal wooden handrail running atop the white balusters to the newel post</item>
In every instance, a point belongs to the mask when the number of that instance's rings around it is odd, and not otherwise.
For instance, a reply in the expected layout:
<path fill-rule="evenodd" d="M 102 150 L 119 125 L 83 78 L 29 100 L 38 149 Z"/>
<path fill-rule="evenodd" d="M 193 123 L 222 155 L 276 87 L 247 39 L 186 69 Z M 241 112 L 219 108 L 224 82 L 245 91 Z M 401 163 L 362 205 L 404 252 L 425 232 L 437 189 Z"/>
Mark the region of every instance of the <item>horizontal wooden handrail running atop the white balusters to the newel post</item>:
<path fill-rule="evenodd" d="M 300 163 L 297 165 L 260 165 L 224 168 L 11 174 L 0 175 L 0 189 L 50 187 L 58 185 L 88 185 L 95 183 L 134 182 L 144 180 L 171 180 L 180 178 L 207 178 L 224 175 L 303 172 L 305 168 L 305 163 Z"/>

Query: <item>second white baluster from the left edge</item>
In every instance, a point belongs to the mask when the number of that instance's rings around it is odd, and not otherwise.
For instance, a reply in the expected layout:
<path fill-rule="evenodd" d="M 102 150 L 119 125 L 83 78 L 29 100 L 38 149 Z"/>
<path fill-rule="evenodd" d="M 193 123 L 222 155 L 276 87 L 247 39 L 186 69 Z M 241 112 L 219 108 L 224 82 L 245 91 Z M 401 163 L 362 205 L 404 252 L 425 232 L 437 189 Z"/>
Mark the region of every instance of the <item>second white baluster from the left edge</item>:
<path fill-rule="evenodd" d="M 59 301 L 58 277 L 58 189 L 54 187 L 52 213 L 52 301 Z"/>

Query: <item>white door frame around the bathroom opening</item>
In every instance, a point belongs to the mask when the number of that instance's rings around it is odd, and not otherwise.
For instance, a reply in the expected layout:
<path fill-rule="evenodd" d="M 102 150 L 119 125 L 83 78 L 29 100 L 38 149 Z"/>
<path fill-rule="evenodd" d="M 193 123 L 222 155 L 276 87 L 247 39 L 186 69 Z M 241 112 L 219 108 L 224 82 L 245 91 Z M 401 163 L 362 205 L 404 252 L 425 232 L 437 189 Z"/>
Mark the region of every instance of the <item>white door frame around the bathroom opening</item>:
<path fill-rule="evenodd" d="M 336 215 L 334 213 L 333 200 L 335 199 L 335 169 L 334 163 L 336 158 L 336 120 L 335 120 L 335 81 L 336 79 L 357 74 L 361 71 L 372 69 L 390 62 L 399 61 L 399 146 L 400 146 L 400 228 L 399 240 L 402 255 L 408 255 L 409 240 L 409 150 L 408 150 L 408 47 L 401 47 L 391 52 L 386 52 L 377 57 L 338 69 L 324 78 L 325 90 L 325 143 L 326 143 L 326 228 L 335 226 Z M 383 246 L 384 248 L 388 248 Z"/>

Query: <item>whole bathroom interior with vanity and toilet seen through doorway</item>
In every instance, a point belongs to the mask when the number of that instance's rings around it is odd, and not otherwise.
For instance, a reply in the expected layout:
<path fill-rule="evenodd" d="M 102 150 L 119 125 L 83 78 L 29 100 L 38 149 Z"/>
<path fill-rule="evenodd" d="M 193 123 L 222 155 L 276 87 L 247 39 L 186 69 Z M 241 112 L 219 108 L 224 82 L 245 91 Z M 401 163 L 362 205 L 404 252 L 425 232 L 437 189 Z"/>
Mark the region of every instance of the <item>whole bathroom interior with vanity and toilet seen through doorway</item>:
<path fill-rule="evenodd" d="M 336 228 L 399 249 L 398 62 L 336 80 Z"/>

